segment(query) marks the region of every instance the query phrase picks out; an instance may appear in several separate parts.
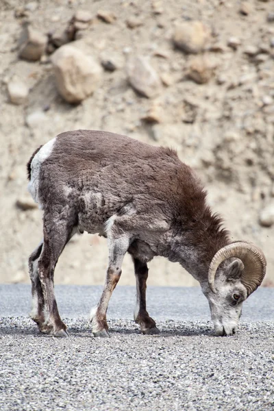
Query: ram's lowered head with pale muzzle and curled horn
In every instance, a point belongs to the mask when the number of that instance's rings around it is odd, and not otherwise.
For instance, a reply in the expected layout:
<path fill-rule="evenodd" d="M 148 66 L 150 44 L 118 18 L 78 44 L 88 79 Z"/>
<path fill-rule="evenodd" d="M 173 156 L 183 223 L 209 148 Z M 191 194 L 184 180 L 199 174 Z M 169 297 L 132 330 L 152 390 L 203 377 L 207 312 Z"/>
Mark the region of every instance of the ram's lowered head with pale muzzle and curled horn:
<path fill-rule="evenodd" d="M 265 273 L 264 253 L 250 242 L 232 242 L 215 254 L 208 284 L 203 284 L 202 290 L 210 304 L 216 335 L 235 334 L 242 302 L 262 284 Z"/>

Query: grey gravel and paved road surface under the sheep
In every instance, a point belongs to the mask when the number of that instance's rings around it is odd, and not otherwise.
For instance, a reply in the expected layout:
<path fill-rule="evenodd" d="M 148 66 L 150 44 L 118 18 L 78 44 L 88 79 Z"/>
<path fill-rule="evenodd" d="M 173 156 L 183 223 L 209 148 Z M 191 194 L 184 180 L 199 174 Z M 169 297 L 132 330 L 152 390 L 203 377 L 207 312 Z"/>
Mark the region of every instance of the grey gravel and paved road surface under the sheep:
<path fill-rule="evenodd" d="M 0 410 L 274 410 L 274 289 L 244 303 L 235 336 L 215 337 L 199 288 L 149 288 L 160 336 L 132 321 L 135 290 L 117 287 L 111 338 L 90 334 L 101 287 L 56 286 L 70 338 L 39 334 L 30 286 L 0 285 Z"/>

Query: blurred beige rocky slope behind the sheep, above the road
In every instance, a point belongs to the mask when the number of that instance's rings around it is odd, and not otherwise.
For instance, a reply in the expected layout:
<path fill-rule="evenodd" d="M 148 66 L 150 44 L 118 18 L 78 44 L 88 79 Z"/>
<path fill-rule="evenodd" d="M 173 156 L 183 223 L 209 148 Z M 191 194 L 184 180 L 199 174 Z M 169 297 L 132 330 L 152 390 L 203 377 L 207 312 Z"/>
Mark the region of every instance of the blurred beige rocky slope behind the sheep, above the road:
<path fill-rule="evenodd" d="M 0 282 L 29 281 L 42 238 L 27 160 L 85 128 L 177 149 L 274 285 L 273 1 L 1 0 L 0 21 Z M 103 238 L 75 236 L 55 282 L 103 284 L 107 262 Z M 196 284 L 161 258 L 150 269 L 150 284 Z M 121 284 L 134 284 L 129 257 Z"/>

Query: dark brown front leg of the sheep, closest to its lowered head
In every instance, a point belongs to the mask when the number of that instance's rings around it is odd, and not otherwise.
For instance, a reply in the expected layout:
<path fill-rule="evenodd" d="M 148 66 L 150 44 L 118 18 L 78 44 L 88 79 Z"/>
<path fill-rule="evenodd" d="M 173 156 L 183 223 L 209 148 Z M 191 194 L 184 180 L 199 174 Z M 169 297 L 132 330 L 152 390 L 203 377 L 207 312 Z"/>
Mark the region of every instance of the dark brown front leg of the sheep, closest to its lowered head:
<path fill-rule="evenodd" d="M 149 316 L 146 306 L 149 269 L 145 262 L 141 262 L 137 258 L 133 258 L 133 261 L 136 277 L 136 309 L 134 312 L 134 320 L 140 325 L 142 334 L 159 334 L 160 331 L 156 327 L 155 321 Z"/>

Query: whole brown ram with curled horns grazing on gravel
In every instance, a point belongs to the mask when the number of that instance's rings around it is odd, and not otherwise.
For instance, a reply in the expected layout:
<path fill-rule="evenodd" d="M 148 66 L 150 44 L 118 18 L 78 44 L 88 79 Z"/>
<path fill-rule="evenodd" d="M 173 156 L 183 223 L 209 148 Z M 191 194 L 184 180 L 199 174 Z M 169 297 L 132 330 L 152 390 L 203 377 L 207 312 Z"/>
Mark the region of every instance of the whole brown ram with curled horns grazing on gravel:
<path fill-rule="evenodd" d="M 146 310 L 147 262 L 164 256 L 179 262 L 201 284 L 215 334 L 236 332 L 242 302 L 266 271 L 262 251 L 231 242 L 220 216 L 206 204 L 206 191 L 189 166 L 169 148 L 89 130 L 59 134 L 27 164 L 29 191 L 44 210 L 43 240 L 29 257 L 32 319 L 41 332 L 66 336 L 55 301 L 53 274 L 75 233 L 108 238 L 109 262 L 92 332 L 108 336 L 108 302 L 121 276 L 126 252 L 136 275 L 134 319 L 144 334 L 158 333 Z"/>

